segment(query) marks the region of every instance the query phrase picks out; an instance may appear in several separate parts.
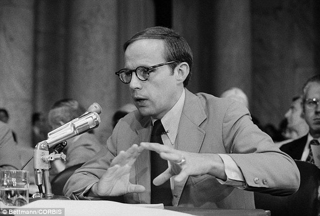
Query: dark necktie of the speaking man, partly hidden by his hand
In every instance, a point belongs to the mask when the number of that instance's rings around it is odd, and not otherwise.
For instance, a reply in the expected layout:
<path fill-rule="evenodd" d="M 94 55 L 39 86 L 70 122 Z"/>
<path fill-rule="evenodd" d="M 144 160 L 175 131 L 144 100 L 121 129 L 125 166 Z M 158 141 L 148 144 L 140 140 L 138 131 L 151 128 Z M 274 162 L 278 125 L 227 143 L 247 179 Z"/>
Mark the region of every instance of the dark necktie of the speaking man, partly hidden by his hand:
<path fill-rule="evenodd" d="M 161 120 L 156 120 L 151 132 L 151 143 L 164 145 L 161 135 L 165 133 L 165 128 Z M 172 206 L 172 193 L 170 180 L 163 185 L 155 186 L 152 181 L 155 177 L 162 174 L 168 168 L 168 161 L 160 157 L 155 151 L 150 151 L 151 162 L 151 203 L 164 203 L 165 206 Z"/>

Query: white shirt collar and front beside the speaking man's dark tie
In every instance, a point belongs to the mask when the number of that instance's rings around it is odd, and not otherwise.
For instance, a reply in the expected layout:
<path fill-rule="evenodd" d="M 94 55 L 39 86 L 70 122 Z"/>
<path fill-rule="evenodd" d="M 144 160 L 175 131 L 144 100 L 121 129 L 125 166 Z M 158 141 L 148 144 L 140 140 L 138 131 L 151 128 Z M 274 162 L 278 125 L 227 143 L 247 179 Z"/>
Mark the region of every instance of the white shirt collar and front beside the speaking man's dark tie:
<path fill-rule="evenodd" d="M 161 119 L 161 122 L 172 144 L 175 142 L 178 134 L 178 126 L 179 126 L 179 121 L 180 121 L 185 97 L 186 97 L 186 93 L 185 93 L 185 89 L 183 88 L 182 94 L 179 100 L 177 101 L 177 103 Z M 151 117 L 151 120 L 153 124 L 154 121 L 156 121 L 157 119 L 154 119 Z"/>

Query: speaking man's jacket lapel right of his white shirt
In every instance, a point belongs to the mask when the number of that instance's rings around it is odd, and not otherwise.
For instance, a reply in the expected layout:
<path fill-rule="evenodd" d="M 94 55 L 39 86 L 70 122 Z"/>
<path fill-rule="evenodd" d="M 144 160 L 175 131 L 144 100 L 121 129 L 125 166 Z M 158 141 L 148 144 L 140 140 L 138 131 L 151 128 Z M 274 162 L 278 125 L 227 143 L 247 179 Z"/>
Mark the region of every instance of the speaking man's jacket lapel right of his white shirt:
<path fill-rule="evenodd" d="M 199 125 L 206 119 L 205 112 L 199 98 L 186 90 L 186 98 L 179 122 L 176 149 L 198 153 L 200 151 L 205 132 Z M 187 179 L 175 183 L 173 205 L 177 206 Z"/>

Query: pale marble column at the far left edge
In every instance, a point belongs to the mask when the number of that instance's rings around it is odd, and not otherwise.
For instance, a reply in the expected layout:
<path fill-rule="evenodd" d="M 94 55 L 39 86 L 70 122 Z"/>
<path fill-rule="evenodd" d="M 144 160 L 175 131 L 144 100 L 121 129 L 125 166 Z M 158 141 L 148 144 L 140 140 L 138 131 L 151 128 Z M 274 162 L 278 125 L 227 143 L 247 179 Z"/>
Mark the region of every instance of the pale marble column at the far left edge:
<path fill-rule="evenodd" d="M 0 1 L 0 107 L 20 145 L 31 145 L 34 1 Z"/>

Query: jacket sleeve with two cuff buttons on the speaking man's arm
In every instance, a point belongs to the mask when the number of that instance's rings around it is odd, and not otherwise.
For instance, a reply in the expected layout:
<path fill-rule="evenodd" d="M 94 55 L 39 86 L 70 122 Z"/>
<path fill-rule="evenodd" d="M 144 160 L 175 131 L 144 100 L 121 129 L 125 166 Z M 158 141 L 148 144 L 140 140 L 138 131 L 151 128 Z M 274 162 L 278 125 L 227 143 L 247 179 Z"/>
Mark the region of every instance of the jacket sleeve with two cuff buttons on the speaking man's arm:
<path fill-rule="evenodd" d="M 238 102 L 225 113 L 223 140 L 242 171 L 245 190 L 273 195 L 289 195 L 298 190 L 300 172 L 294 160 L 253 124 L 249 111 Z"/>

